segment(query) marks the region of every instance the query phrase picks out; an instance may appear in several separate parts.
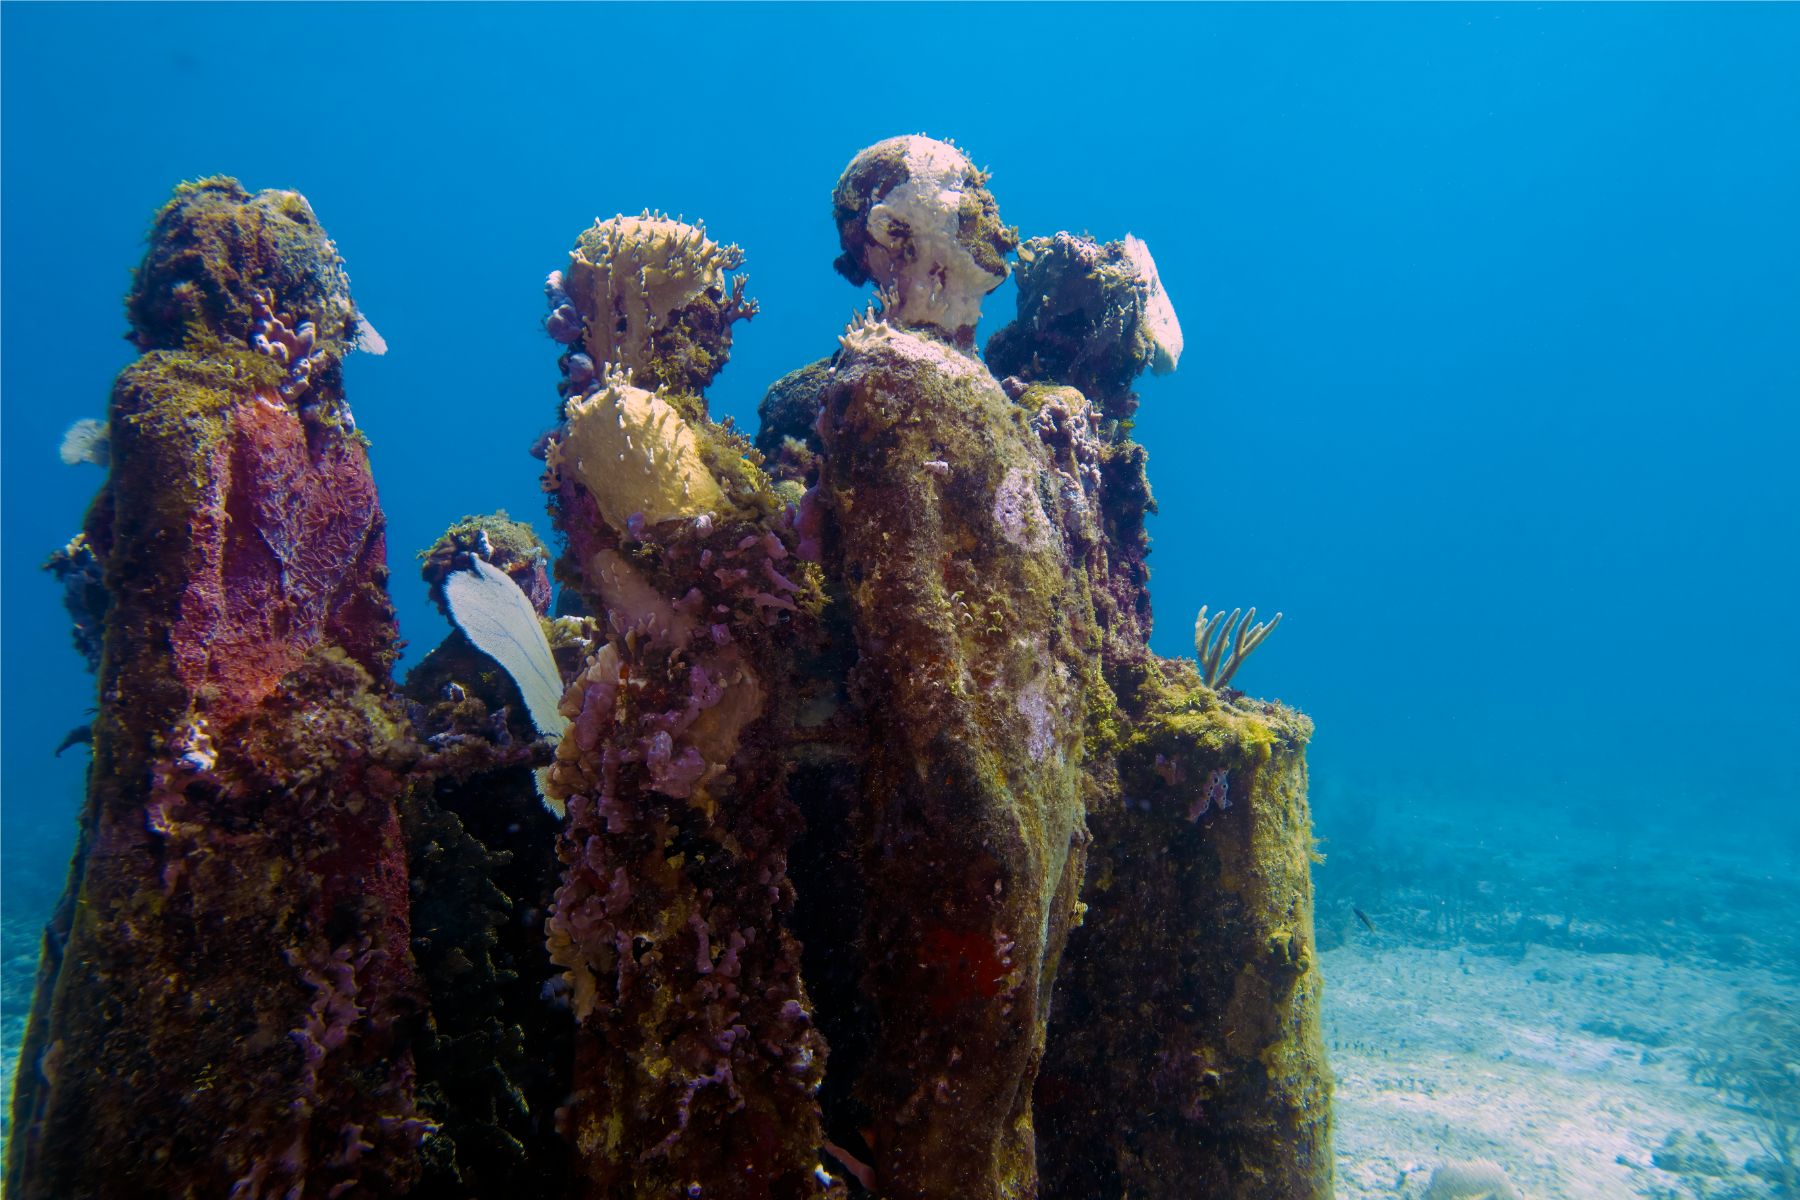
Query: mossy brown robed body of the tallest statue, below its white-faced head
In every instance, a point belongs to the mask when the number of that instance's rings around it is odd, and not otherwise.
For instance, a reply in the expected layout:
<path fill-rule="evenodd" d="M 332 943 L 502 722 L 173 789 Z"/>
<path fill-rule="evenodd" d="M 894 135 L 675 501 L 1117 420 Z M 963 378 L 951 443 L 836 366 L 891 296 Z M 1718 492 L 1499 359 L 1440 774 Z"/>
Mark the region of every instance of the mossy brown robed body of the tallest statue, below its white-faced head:
<path fill-rule="evenodd" d="M 1111 711 L 1044 450 L 979 362 L 853 329 L 824 394 L 826 567 L 868 729 L 855 829 L 884 1196 L 1028 1196 L 1030 1088 Z"/>

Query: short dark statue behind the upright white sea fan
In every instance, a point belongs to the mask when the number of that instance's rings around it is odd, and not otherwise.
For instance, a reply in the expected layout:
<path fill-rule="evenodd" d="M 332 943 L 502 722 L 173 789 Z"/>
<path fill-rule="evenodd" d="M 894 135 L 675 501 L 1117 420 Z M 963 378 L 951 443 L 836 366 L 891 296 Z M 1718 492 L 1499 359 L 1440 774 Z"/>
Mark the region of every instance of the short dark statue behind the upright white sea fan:
<path fill-rule="evenodd" d="M 538 738 L 562 720 L 560 682 L 585 644 L 565 622 L 518 628 L 542 622 L 551 604 L 549 552 L 524 522 L 464 516 L 419 558 L 445 615 L 450 592 L 481 578 L 482 592 L 511 608 L 497 622 L 502 637 L 536 642 L 547 630 L 556 684 L 551 712 L 535 711 L 544 700 L 535 705 L 463 628 L 407 673 L 414 736 L 427 748 L 421 766 L 430 768 L 428 786 L 414 788 L 400 815 L 427 1009 L 414 1042 L 416 1090 L 434 1126 L 409 1195 L 553 1196 L 569 1178 L 554 1112 L 569 1096 L 571 1031 L 556 991 L 545 991 L 556 977 L 544 912 L 556 891 L 560 813 L 542 802 L 536 781 L 554 748 Z M 495 594 L 500 587 L 513 590 Z M 544 671 L 520 667 L 527 680 Z"/>

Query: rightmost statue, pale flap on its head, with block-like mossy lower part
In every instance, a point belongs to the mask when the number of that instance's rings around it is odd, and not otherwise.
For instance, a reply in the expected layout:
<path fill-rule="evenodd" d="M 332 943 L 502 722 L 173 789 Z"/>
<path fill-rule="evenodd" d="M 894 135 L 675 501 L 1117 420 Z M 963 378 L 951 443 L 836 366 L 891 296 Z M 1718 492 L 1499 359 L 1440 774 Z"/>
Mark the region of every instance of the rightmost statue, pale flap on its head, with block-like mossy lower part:
<path fill-rule="evenodd" d="M 1150 488 L 1130 385 L 1181 351 L 1148 250 L 1057 234 L 1026 257 L 1019 318 L 988 360 L 1102 516 L 1100 543 L 1071 543 L 1071 561 L 1094 581 L 1121 718 L 1037 1085 L 1042 1195 L 1323 1198 L 1312 721 L 1228 687 L 1249 639 L 1226 669 L 1219 642 L 1197 644 L 1199 667 L 1148 649 Z"/>

